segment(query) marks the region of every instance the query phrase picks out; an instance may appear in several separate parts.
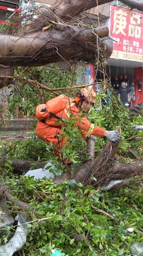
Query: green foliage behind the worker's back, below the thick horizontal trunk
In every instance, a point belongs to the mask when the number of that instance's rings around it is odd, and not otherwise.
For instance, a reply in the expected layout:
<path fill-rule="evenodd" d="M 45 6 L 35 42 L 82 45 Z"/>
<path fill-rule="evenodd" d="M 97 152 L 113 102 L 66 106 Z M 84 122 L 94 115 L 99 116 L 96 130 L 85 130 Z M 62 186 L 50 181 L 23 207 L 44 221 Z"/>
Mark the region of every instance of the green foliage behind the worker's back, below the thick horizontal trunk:
<path fill-rule="evenodd" d="M 61 72 L 56 67 L 33 67 L 31 69 L 22 70 L 17 67 L 14 76 L 21 75 L 22 79 L 15 79 L 9 86 L 11 92 L 7 95 L 9 109 L 7 117 L 10 119 L 16 113 L 16 107 L 19 107 L 19 112 L 22 114 L 28 113 L 29 116 L 35 116 L 35 107 L 48 101 L 53 97 L 49 91 L 43 91 L 38 87 L 30 86 L 27 79 L 37 80 L 42 84 L 48 84 L 50 89 L 55 87 L 67 87 L 70 84 L 70 75 L 67 72 Z M 59 92 L 60 94 L 61 92 Z M 64 92 L 62 92 L 64 93 Z M 39 97 L 40 96 L 40 97 Z"/>

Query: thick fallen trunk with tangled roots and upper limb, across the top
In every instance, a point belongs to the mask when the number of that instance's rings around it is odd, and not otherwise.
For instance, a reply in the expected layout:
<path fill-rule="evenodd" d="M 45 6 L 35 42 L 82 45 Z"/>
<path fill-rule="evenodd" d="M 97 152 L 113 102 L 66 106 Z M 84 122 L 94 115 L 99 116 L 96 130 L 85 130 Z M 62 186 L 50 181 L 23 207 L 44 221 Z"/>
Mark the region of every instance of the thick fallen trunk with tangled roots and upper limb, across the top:
<path fill-rule="evenodd" d="M 15 20 L 22 24 L 8 34 L 0 34 L 0 64 L 12 66 L 42 66 L 59 61 L 96 63 L 111 56 L 113 41 L 107 26 L 84 24 L 83 12 L 109 0 L 59 1 L 51 8 L 35 7 Z M 123 0 L 124 4 L 142 10 L 142 1 Z M 79 17 L 80 15 L 80 17 Z M 14 24 L 9 28 L 12 31 Z M 16 26 L 15 26 L 16 27 Z"/>

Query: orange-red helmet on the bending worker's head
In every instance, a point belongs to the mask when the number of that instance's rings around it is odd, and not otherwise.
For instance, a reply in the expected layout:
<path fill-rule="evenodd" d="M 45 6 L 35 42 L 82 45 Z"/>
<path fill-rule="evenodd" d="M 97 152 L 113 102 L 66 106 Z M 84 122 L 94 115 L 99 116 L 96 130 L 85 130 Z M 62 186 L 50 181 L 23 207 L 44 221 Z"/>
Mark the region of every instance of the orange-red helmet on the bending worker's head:
<path fill-rule="evenodd" d="M 90 103 L 96 102 L 96 92 L 93 91 L 93 89 L 90 88 L 82 88 L 75 97 L 75 101 L 81 101 L 82 99 L 85 99 L 86 101 L 89 101 Z"/>

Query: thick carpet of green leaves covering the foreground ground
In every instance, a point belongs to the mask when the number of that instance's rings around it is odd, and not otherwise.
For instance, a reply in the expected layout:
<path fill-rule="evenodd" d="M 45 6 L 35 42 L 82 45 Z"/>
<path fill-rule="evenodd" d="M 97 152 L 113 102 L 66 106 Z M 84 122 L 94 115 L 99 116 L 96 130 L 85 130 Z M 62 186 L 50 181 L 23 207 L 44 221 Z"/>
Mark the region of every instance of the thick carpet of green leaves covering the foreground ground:
<path fill-rule="evenodd" d="M 51 249 L 62 255 L 124 255 L 130 256 L 134 241 L 142 242 L 142 180 L 116 192 L 97 192 L 75 182 L 54 184 L 52 180 L 34 180 L 22 176 L 6 179 L 15 184 L 14 198 L 31 205 L 27 211 L 31 222 L 29 235 L 22 249 L 27 256 L 48 256 Z M 133 192 L 134 191 L 134 192 Z M 8 202 L 7 202 L 8 204 Z M 17 212 L 9 205 L 9 211 Z M 98 209 L 114 216 L 110 219 Z M 20 209 L 21 210 L 21 209 Z M 133 228 L 129 232 L 129 228 Z M 21 255 L 22 250 L 16 255 Z"/>

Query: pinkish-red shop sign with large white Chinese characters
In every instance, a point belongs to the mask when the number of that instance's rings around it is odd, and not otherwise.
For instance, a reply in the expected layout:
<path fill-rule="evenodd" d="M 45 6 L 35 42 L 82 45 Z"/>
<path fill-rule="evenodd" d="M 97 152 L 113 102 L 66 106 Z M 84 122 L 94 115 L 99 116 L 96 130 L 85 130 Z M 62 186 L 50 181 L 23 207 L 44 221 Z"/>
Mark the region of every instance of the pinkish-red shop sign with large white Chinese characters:
<path fill-rule="evenodd" d="M 143 13 L 111 6 L 111 36 L 116 59 L 143 62 Z"/>

